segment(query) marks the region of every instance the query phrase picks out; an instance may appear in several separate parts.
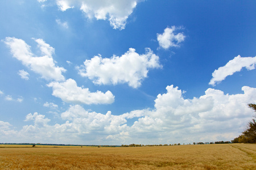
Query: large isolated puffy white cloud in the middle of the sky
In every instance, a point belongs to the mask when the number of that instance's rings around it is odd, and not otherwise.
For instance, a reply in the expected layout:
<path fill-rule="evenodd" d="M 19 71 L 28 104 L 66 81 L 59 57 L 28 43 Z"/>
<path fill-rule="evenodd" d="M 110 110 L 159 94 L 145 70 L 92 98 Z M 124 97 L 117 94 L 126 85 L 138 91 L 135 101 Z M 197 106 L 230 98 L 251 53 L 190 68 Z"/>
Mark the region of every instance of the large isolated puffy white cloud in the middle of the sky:
<path fill-rule="evenodd" d="M 130 48 L 121 57 L 94 56 L 87 59 L 84 66 L 79 67 L 79 74 L 93 80 L 94 84 L 128 83 L 129 86 L 137 88 L 147 77 L 148 69 L 159 67 L 162 67 L 159 64 L 159 57 L 149 48 L 146 49 L 146 54 L 141 55 Z"/>

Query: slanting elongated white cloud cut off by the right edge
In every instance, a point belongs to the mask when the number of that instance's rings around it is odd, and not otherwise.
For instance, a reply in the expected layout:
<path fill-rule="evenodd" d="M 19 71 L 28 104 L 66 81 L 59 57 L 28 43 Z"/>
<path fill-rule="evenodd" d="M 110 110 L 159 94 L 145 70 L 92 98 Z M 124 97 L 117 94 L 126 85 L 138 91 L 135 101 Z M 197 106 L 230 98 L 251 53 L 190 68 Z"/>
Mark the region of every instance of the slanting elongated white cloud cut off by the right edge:
<path fill-rule="evenodd" d="M 233 75 L 234 73 L 241 71 L 243 67 L 246 67 L 247 70 L 253 70 L 255 69 L 255 64 L 256 57 L 237 56 L 226 63 L 225 66 L 214 70 L 209 84 L 215 86 L 216 83 L 220 83 L 222 80 L 225 80 L 226 76 Z"/>

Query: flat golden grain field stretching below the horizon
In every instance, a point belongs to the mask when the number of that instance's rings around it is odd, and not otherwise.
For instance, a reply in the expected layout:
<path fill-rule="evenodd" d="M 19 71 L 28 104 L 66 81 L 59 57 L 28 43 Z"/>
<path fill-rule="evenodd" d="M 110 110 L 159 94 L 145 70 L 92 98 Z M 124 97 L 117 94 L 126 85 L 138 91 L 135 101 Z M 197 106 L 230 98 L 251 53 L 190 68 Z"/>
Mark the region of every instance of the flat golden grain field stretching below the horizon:
<path fill-rule="evenodd" d="M 256 169 L 254 144 L 0 147 L 0 169 Z"/>

